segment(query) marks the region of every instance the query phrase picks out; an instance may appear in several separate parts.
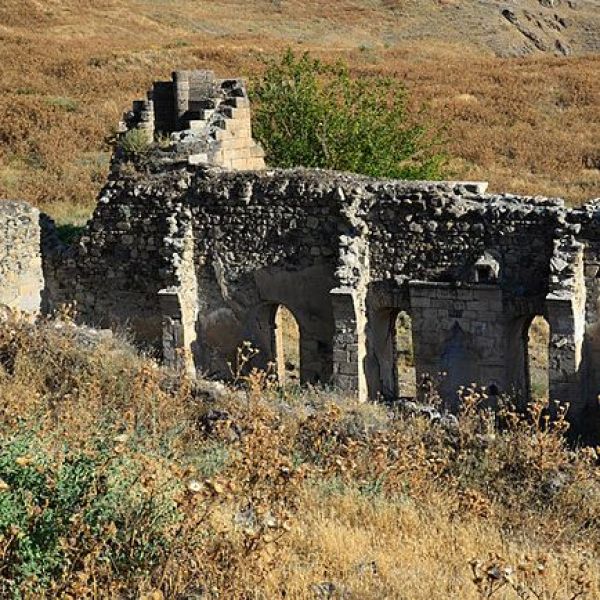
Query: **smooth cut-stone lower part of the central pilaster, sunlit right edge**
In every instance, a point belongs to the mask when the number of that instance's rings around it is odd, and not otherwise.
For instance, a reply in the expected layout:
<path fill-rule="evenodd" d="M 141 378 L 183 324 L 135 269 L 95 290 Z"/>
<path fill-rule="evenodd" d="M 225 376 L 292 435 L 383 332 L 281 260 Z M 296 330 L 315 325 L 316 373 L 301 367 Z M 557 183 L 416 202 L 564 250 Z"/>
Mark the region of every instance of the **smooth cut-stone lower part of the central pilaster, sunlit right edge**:
<path fill-rule="evenodd" d="M 331 291 L 331 300 L 335 321 L 333 384 L 363 402 L 367 399 L 364 296 L 351 288 L 336 288 Z"/>

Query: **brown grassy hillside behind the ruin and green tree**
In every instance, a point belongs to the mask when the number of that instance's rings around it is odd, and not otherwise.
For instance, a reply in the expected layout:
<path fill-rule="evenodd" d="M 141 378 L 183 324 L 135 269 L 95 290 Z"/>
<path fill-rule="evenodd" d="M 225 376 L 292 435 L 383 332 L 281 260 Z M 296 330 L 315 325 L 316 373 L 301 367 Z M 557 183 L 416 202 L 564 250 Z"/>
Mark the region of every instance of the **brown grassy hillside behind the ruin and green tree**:
<path fill-rule="evenodd" d="M 499 58 L 479 30 L 460 41 L 449 4 L 461 3 L 4 0 L 0 197 L 84 220 L 107 140 L 152 80 L 175 67 L 251 76 L 288 45 L 401 78 L 444 131 L 449 177 L 572 203 L 600 195 L 600 58 Z"/>

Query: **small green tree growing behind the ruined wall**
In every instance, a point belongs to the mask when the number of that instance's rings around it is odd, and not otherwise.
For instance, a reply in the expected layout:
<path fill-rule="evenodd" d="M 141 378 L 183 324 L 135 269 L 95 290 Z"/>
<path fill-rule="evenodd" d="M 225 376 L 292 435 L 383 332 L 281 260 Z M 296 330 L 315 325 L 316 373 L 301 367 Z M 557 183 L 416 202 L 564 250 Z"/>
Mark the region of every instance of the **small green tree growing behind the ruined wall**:
<path fill-rule="evenodd" d="M 320 167 L 398 179 L 439 179 L 439 141 L 408 119 L 404 86 L 354 78 L 348 66 L 292 50 L 253 82 L 254 133 L 277 167 Z"/>

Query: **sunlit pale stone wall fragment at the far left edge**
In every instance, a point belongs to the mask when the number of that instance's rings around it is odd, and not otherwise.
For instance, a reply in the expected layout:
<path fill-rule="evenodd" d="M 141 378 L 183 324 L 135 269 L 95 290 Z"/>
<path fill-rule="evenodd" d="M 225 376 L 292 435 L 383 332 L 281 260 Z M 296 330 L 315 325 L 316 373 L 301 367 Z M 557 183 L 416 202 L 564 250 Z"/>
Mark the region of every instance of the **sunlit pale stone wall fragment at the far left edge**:
<path fill-rule="evenodd" d="M 0 309 L 38 312 L 43 294 L 40 212 L 0 200 Z"/>

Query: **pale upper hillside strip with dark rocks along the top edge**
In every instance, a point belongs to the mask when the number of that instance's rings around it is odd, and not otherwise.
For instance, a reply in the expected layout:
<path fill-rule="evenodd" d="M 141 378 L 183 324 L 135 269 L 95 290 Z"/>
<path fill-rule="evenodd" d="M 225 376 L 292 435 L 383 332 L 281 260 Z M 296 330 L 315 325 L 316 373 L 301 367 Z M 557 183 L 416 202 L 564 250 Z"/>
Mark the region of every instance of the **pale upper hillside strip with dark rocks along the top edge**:
<path fill-rule="evenodd" d="M 5 32 L 43 27 L 61 37 L 82 36 L 110 26 L 119 37 L 133 22 L 139 35 L 165 29 L 216 36 L 260 33 L 330 47 L 427 41 L 502 57 L 600 50 L 599 0 L 6 0 L 0 6 Z"/>

